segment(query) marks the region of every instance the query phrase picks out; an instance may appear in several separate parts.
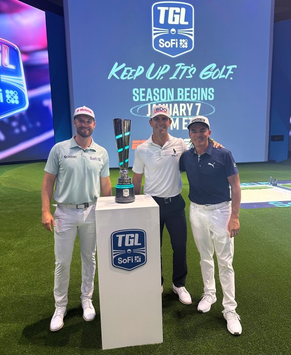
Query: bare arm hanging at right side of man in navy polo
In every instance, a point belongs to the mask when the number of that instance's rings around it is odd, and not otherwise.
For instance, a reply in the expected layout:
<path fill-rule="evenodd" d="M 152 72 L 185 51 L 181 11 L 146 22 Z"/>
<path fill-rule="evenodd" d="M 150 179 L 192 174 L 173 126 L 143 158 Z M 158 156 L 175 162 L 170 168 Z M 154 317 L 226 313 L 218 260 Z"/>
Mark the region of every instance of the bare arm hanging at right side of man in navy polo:
<path fill-rule="evenodd" d="M 230 238 L 236 236 L 240 230 L 239 210 L 241 204 L 241 183 L 238 174 L 227 178 L 231 187 L 231 215 L 228 222 Z"/>

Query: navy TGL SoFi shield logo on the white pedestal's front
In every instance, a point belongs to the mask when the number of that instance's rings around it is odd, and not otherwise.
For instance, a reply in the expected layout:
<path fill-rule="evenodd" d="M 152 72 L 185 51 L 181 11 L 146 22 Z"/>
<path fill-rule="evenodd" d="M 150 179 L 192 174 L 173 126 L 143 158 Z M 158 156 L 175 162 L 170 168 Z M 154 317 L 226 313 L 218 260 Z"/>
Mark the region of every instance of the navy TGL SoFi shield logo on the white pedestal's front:
<path fill-rule="evenodd" d="M 146 232 L 142 229 L 123 229 L 111 234 L 112 265 L 133 270 L 146 264 Z"/>

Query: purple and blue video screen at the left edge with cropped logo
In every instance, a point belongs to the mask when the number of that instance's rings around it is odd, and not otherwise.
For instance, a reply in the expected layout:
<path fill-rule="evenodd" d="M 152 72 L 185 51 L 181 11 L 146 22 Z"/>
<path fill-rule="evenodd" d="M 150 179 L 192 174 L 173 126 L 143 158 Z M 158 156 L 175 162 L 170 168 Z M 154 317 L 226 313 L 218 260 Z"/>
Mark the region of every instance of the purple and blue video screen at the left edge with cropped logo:
<path fill-rule="evenodd" d="M 45 13 L 0 8 L 0 163 L 42 160 L 54 145 Z"/>

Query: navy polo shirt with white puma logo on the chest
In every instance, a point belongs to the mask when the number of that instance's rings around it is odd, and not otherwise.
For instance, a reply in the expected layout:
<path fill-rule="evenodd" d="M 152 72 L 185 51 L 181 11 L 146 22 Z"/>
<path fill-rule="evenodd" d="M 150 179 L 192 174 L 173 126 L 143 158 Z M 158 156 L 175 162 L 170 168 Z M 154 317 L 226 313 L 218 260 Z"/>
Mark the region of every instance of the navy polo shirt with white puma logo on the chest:
<path fill-rule="evenodd" d="M 198 154 L 191 148 L 182 154 L 180 170 L 187 174 L 190 201 L 214 205 L 231 200 L 227 177 L 237 174 L 238 170 L 229 150 L 216 149 L 209 143 L 198 163 Z"/>

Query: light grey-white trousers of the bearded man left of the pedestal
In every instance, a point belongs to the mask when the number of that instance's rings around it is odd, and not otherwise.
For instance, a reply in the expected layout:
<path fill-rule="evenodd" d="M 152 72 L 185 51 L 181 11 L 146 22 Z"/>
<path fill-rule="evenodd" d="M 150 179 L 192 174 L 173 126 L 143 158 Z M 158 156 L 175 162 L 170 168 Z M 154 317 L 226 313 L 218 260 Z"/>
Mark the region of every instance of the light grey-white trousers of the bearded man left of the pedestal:
<path fill-rule="evenodd" d="M 67 306 L 70 266 L 76 234 L 79 235 L 82 259 L 81 299 L 92 298 L 96 269 L 96 204 L 86 209 L 69 209 L 58 206 L 54 219 L 55 237 L 55 306 Z"/>

